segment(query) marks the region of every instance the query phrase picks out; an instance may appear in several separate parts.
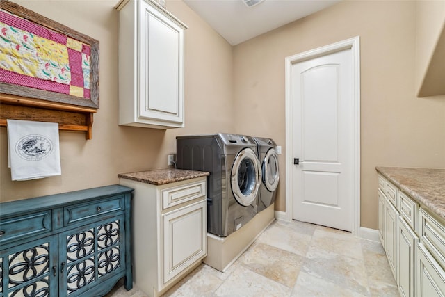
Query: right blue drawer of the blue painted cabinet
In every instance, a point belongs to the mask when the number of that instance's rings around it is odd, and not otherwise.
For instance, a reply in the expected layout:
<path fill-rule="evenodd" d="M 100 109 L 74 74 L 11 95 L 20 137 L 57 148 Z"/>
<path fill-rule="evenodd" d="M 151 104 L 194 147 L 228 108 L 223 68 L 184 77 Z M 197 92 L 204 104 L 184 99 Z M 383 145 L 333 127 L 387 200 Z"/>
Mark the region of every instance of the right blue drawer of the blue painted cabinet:
<path fill-rule="evenodd" d="M 104 216 L 104 214 L 115 213 L 124 210 L 124 197 L 108 198 L 107 200 L 97 200 L 84 204 L 76 204 L 63 209 L 63 221 L 66 225 L 95 218 L 97 216 Z"/>

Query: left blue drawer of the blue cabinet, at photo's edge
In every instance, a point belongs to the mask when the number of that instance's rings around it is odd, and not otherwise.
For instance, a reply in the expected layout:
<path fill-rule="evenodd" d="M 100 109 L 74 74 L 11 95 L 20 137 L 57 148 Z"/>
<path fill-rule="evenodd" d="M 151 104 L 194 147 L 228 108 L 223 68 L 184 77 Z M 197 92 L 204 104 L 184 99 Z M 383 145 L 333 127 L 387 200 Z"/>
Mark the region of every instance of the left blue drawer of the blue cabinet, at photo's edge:
<path fill-rule="evenodd" d="M 51 231 L 51 211 L 41 211 L 0 221 L 0 243 Z"/>

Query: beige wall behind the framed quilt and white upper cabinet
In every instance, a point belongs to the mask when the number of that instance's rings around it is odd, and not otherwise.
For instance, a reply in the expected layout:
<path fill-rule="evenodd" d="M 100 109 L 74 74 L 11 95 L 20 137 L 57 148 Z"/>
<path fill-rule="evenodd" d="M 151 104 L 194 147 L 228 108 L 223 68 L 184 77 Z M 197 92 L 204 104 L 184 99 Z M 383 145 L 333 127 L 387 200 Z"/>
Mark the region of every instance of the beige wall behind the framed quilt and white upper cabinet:
<path fill-rule="evenodd" d="M 118 0 L 16 1 L 100 42 L 100 107 L 85 134 L 60 132 L 62 175 L 11 182 L 6 129 L 0 129 L 2 202 L 82 188 L 116 184 L 119 172 L 166 168 L 178 134 L 233 131 L 232 47 L 181 1 L 168 9 L 189 26 L 186 31 L 186 128 L 144 129 L 118 126 Z M 211 112 L 212 111 L 212 112 Z M 218 111 L 218 116 L 213 114 Z"/>

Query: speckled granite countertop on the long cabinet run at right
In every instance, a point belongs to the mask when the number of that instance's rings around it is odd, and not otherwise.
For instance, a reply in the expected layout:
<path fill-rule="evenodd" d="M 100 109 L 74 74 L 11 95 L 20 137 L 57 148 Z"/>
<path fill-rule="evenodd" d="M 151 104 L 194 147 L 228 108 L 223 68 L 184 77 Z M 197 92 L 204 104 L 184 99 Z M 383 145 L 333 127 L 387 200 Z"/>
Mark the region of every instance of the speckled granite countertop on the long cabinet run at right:
<path fill-rule="evenodd" d="M 445 219 L 445 169 L 376 167 L 411 198 Z"/>

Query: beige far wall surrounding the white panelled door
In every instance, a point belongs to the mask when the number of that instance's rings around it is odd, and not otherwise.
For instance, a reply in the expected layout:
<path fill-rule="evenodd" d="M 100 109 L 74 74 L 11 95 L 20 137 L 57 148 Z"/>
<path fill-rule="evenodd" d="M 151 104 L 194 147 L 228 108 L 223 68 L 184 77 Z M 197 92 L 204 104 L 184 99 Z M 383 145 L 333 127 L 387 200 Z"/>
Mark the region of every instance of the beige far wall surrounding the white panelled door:
<path fill-rule="evenodd" d="M 414 95 L 415 6 L 414 1 L 343 1 L 234 47 L 236 129 L 272 137 L 283 148 L 276 210 L 288 210 L 284 58 L 357 35 L 362 227 L 377 229 L 375 166 L 445 167 L 445 96 Z"/>

